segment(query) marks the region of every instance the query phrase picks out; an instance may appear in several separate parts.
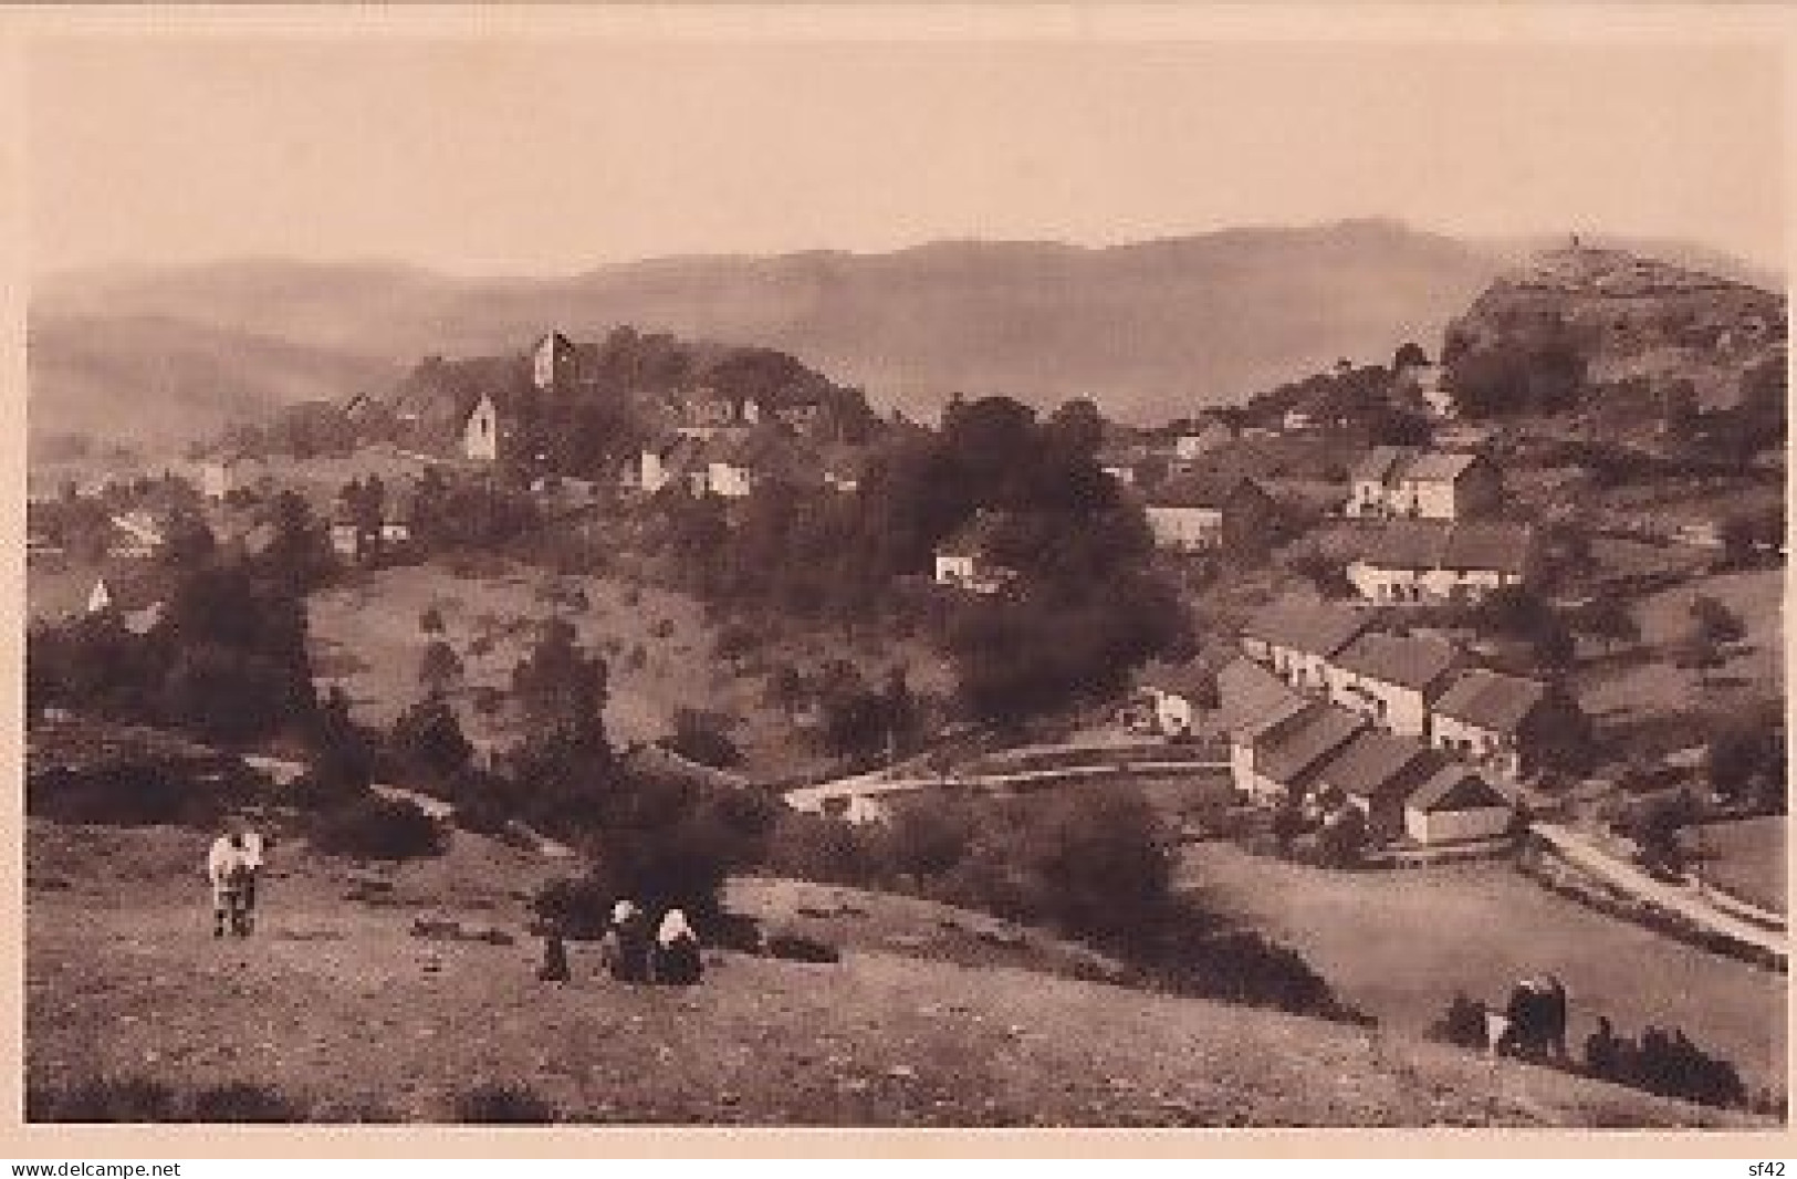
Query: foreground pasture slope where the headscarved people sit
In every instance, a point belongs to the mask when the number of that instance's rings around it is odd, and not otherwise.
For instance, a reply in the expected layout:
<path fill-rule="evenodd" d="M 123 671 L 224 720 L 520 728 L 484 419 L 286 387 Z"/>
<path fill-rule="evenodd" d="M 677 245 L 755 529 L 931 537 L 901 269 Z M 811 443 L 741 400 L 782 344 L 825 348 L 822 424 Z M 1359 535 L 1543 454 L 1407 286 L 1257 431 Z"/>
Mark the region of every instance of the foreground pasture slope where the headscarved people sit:
<path fill-rule="evenodd" d="M 967 931 L 985 918 L 841 890 L 751 897 L 864 927 L 834 965 L 712 951 L 701 987 L 620 987 L 575 945 L 573 981 L 544 985 L 530 938 L 410 935 L 424 913 L 519 929 L 528 866 L 462 836 L 451 863 L 379 873 L 381 904 L 345 902 L 368 872 L 284 843 L 257 936 L 214 942 L 201 852 L 194 832 L 32 823 L 31 1089 L 248 1082 L 325 1121 L 451 1121 L 491 1082 L 582 1123 L 1759 1125 L 1385 1030 L 981 958 Z M 945 940 L 976 949 L 936 953 Z"/>

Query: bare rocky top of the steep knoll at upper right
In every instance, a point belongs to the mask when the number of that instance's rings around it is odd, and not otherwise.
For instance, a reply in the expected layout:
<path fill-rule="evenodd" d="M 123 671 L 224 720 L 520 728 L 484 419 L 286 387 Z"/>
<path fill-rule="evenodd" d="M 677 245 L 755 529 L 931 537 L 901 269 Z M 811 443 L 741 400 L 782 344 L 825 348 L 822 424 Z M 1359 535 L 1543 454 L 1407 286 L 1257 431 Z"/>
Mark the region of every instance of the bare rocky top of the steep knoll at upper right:
<path fill-rule="evenodd" d="M 1623 250 L 1567 246 L 1499 277 L 1445 334 L 1447 354 L 1553 338 L 1587 390 L 1659 399 L 1689 383 L 1705 410 L 1739 401 L 1743 376 L 1783 361 L 1784 297 Z"/>

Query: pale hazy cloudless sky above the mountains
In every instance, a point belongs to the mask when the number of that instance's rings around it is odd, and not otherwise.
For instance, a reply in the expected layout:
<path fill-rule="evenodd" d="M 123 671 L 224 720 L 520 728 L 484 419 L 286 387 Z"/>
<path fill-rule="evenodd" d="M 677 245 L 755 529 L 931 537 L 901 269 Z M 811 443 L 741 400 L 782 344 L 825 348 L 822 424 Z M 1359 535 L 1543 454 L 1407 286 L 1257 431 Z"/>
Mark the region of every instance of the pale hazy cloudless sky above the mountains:
<path fill-rule="evenodd" d="M 1393 216 L 1783 261 L 1745 45 L 45 41 L 34 270 L 232 255 L 566 273 Z"/>

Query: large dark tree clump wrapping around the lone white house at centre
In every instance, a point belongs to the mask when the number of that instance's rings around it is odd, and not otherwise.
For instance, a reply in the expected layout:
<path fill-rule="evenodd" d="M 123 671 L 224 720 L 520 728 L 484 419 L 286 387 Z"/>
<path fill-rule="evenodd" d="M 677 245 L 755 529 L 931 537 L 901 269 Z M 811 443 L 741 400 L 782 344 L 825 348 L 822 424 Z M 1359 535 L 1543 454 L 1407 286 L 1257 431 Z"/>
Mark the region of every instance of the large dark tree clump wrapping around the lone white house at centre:
<path fill-rule="evenodd" d="M 933 615 L 909 579 L 985 514 L 985 557 L 1017 573 L 1015 591 L 934 618 L 965 708 L 1014 722 L 1114 692 L 1134 665 L 1186 638 L 1177 590 L 1152 570 L 1141 509 L 1098 465 L 1102 433 L 1089 401 L 1039 421 L 1008 397 L 956 399 L 940 431 L 891 440 L 852 496 L 762 483 L 735 521 L 715 500 L 679 496 L 667 543 L 730 611 L 916 622 Z"/>

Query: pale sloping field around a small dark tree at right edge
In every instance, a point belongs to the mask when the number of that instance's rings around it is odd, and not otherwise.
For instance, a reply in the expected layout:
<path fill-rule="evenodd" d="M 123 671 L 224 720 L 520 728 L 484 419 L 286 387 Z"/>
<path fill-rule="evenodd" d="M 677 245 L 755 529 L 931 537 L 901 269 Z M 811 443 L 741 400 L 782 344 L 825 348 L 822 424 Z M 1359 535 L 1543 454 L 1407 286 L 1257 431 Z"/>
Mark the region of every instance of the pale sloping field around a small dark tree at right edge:
<path fill-rule="evenodd" d="M 1675 645 L 1689 634 L 1696 595 L 1720 600 L 1747 624 L 1747 640 L 1727 667 L 1713 672 L 1709 685 L 1696 670 L 1673 665 Z M 1628 721 L 1675 712 L 1723 715 L 1743 705 L 1779 699 L 1784 692 L 1783 597 L 1783 570 L 1720 573 L 1650 595 L 1635 607 L 1635 616 L 1641 640 L 1655 658 L 1585 672 L 1580 703 L 1596 717 Z"/>

